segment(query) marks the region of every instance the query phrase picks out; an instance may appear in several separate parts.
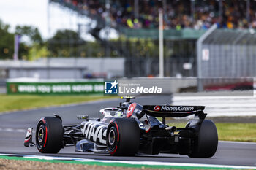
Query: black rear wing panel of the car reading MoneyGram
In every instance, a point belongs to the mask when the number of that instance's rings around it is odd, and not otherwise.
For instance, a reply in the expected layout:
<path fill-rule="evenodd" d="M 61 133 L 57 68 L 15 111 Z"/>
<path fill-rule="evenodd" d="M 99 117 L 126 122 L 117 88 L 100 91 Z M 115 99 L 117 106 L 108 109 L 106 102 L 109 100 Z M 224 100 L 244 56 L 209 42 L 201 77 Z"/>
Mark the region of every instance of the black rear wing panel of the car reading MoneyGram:
<path fill-rule="evenodd" d="M 198 116 L 204 119 L 206 114 L 203 106 L 170 106 L 170 105 L 144 105 L 143 113 L 154 117 L 187 117 L 189 115 Z"/>

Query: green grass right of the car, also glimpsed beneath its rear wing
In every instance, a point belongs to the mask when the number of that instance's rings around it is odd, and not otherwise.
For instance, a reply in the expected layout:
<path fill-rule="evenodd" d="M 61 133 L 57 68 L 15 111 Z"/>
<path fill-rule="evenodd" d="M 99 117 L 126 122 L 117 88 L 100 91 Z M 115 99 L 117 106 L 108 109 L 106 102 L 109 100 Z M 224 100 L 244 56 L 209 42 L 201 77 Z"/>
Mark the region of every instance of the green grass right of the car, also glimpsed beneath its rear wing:
<path fill-rule="evenodd" d="M 186 123 L 169 124 L 184 128 Z M 256 123 L 215 123 L 219 140 L 256 142 Z"/>

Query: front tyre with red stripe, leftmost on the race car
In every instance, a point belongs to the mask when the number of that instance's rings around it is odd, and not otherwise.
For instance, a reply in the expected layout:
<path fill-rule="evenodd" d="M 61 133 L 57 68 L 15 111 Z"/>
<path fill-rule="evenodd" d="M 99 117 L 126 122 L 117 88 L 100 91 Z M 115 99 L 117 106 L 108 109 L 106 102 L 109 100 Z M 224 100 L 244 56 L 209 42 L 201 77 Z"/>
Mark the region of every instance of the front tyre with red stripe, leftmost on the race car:
<path fill-rule="evenodd" d="M 42 117 L 37 124 L 37 149 L 42 153 L 58 153 L 63 147 L 63 126 L 57 117 Z"/>

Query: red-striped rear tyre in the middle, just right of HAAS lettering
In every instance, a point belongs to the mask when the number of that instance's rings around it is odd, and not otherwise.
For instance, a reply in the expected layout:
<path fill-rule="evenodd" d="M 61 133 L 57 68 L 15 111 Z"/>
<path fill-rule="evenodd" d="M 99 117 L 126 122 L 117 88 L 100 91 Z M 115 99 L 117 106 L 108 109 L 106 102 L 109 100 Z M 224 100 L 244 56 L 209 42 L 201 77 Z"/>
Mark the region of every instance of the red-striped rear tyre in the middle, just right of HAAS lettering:
<path fill-rule="evenodd" d="M 108 125 L 107 147 L 110 155 L 135 155 L 140 146 L 140 128 L 135 120 L 115 118 Z"/>

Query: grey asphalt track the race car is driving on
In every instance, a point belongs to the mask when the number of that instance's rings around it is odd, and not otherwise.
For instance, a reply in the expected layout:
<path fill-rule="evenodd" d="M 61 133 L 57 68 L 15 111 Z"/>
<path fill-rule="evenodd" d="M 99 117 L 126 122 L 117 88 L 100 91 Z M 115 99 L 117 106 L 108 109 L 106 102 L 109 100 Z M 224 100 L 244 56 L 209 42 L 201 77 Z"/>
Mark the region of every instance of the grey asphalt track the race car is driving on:
<path fill-rule="evenodd" d="M 189 158 L 187 155 L 159 154 L 135 155 L 133 157 L 113 157 L 106 154 L 75 152 L 74 147 L 65 147 L 58 154 L 41 154 L 36 147 L 23 147 L 23 139 L 28 127 L 36 128 L 37 121 L 53 113 L 60 115 L 64 124 L 80 124 L 76 115 L 102 117 L 99 109 L 117 107 L 119 99 L 94 101 L 86 104 L 74 104 L 64 107 L 49 107 L 26 111 L 10 112 L 0 115 L 0 153 L 49 155 L 75 158 L 92 158 L 116 161 L 161 161 L 173 163 L 206 163 L 214 165 L 256 166 L 256 143 L 219 142 L 216 154 L 212 158 Z M 143 97 L 135 99 L 140 104 L 167 104 L 170 96 Z M 33 139 L 34 140 L 34 139 Z"/>

